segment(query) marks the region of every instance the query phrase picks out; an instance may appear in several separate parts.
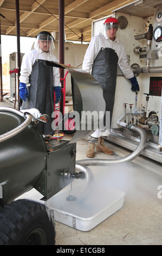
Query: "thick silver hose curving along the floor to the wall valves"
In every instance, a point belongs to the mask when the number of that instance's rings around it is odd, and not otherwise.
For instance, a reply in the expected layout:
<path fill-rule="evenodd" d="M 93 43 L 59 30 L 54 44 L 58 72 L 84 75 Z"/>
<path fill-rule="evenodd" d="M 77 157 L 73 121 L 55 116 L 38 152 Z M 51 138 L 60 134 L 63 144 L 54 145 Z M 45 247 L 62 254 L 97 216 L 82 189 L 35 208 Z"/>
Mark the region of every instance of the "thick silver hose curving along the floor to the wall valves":
<path fill-rule="evenodd" d="M 127 161 L 132 161 L 135 159 L 142 150 L 144 150 L 147 137 L 146 133 L 143 129 L 141 129 L 138 126 L 133 126 L 132 127 L 133 131 L 136 131 L 140 134 L 140 143 L 130 155 L 123 157 L 122 159 L 112 159 L 112 160 L 106 160 L 106 159 L 83 159 L 83 160 L 77 160 L 76 163 L 78 164 L 83 164 L 84 166 L 104 166 L 107 163 L 122 163 L 122 162 L 127 162 Z"/>

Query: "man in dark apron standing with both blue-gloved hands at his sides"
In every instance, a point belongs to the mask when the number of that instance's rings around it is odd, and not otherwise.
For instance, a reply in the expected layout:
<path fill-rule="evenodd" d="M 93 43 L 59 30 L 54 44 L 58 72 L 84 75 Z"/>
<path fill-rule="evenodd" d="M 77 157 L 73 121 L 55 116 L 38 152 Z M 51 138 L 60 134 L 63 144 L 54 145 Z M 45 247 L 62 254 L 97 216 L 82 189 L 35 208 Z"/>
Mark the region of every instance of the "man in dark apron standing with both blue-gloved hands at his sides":
<path fill-rule="evenodd" d="M 53 36 L 46 31 L 36 36 L 34 50 L 25 53 L 20 72 L 20 97 L 23 100 L 22 109 L 37 108 L 41 114 L 49 115 L 47 124 L 38 123 L 40 131 L 48 135 L 53 119 L 55 103 L 61 99 L 61 83 L 59 68 L 46 65 L 43 60 L 58 62 L 54 53 Z"/>

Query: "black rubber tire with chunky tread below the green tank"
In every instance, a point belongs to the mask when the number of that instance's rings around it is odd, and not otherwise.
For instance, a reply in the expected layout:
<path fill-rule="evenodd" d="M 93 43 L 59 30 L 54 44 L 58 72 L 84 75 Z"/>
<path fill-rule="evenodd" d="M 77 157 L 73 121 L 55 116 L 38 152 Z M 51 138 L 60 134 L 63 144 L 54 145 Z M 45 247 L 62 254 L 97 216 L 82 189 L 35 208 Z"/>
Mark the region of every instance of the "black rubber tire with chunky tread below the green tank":
<path fill-rule="evenodd" d="M 5 205 L 0 212 L 0 245 L 55 245 L 53 212 L 28 199 Z"/>

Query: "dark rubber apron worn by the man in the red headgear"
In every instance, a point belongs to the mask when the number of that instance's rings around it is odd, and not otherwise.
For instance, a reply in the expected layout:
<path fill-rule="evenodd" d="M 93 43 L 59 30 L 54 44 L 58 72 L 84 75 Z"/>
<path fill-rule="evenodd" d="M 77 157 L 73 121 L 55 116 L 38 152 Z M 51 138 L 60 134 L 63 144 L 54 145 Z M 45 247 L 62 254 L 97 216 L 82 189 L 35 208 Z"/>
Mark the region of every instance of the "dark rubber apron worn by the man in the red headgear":
<path fill-rule="evenodd" d="M 115 100 L 117 66 L 118 55 L 116 52 L 112 48 L 101 48 L 92 68 L 92 75 L 103 89 L 106 111 L 110 112 L 110 127 Z M 103 119 L 104 126 L 106 125 L 105 117 Z"/>

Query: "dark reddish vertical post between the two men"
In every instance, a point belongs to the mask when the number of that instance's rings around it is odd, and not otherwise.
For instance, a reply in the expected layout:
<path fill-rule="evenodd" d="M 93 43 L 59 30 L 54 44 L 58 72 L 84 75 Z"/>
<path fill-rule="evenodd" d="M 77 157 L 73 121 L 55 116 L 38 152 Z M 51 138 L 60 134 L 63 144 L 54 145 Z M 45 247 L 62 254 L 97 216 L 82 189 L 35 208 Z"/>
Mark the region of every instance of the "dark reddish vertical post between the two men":
<path fill-rule="evenodd" d="M 64 64 L 64 0 L 59 0 L 59 63 Z M 64 77 L 64 69 L 60 69 L 60 78 Z M 63 80 L 61 80 L 63 87 Z M 63 113 L 63 95 L 61 95 L 60 112 Z"/>

